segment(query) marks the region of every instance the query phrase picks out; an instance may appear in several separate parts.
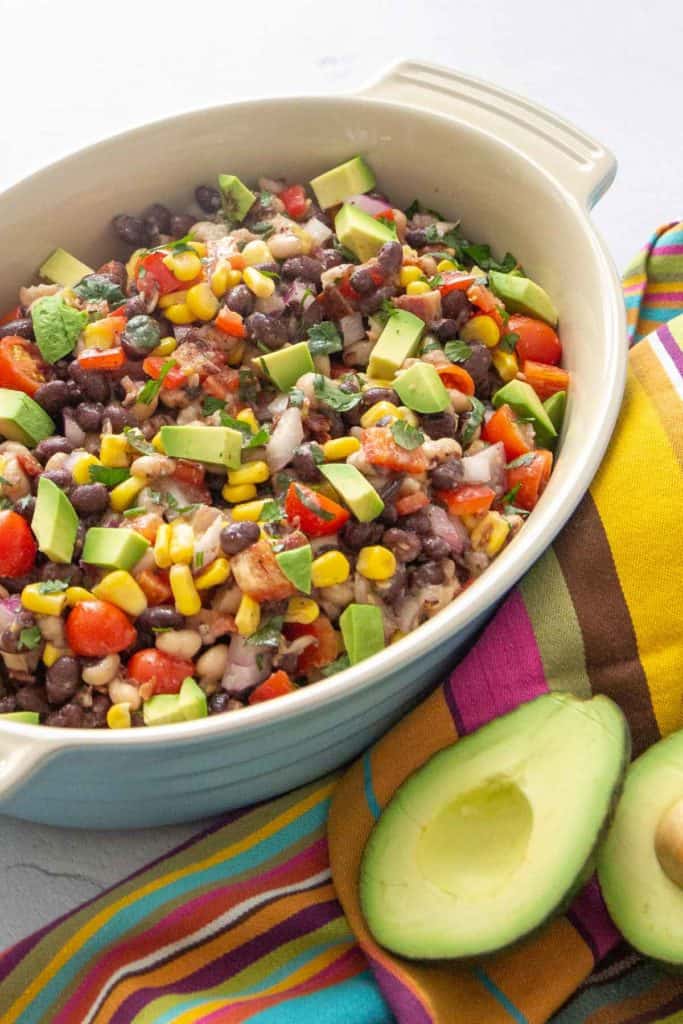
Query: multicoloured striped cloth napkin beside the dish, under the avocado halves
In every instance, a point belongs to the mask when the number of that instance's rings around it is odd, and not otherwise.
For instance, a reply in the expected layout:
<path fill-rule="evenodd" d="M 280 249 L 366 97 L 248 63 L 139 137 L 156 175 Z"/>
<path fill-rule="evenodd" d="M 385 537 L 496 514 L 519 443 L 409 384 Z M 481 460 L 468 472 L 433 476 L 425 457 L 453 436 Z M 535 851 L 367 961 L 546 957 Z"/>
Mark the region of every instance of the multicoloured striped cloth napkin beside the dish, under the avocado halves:
<path fill-rule="evenodd" d="M 466 969 L 389 955 L 357 902 L 395 787 L 489 718 L 551 689 L 614 697 L 636 751 L 683 727 L 683 223 L 625 291 L 632 340 L 647 337 L 607 457 L 451 678 L 346 775 L 222 818 L 8 949 L 2 1024 L 683 1021 L 683 980 L 620 944 L 595 882 L 541 935 Z"/>

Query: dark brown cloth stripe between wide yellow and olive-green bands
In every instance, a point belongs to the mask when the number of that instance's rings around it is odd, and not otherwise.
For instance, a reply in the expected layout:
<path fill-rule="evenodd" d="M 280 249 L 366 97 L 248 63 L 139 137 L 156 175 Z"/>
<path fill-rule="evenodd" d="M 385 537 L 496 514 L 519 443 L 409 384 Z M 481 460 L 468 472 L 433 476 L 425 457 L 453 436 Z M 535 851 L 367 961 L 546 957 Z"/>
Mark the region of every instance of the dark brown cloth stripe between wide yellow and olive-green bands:
<path fill-rule="evenodd" d="M 659 738 L 636 634 L 597 507 L 586 495 L 555 541 L 584 638 L 593 693 L 605 693 L 629 720 L 634 754 Z"/>

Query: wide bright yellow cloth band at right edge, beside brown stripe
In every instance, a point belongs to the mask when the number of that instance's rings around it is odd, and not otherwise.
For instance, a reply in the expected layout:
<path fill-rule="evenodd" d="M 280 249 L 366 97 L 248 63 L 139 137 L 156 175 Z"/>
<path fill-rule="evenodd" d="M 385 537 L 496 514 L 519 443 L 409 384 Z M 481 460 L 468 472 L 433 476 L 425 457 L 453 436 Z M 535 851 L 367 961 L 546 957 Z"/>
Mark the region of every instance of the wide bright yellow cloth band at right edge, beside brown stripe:
<path fill-rule="evenodd" d="M 681 606 L 681 552 L 680 530 L 661 528 L 659 510 L 674 514 L 672 496 L 677 488 L 681 493 L 683 476 L 656 410 L 632 370 L 621 423 L 591 490 L 631 612 L 657 725 L 668 733 L 678 727 L 683 695 L 683 632 L 672 614 Z M 651 564 L 655 546 L 656 564 Z"/>

